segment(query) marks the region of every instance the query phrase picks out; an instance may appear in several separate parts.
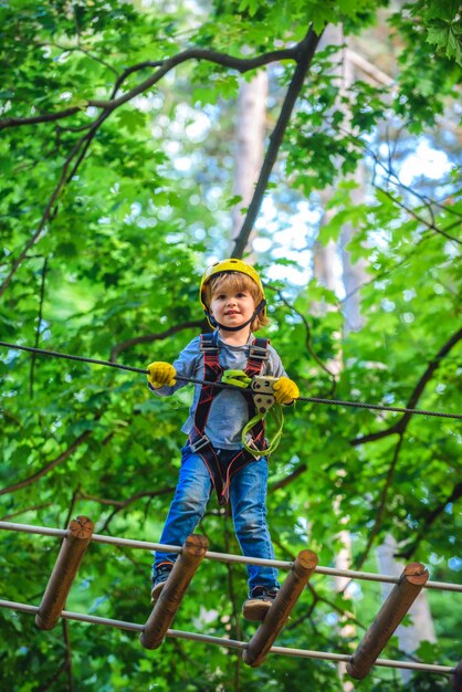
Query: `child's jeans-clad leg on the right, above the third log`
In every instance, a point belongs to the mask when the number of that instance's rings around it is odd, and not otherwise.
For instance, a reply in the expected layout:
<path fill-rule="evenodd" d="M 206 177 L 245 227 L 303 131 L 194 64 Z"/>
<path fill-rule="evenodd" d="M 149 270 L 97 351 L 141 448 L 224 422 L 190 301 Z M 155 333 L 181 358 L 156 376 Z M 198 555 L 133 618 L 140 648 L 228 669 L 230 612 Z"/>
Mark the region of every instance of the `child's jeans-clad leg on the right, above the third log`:
<path fill-rule="evenodd" d="M 266 524 L 267 461 L 249 462 L 231 481 L 231 506 L 235 535 L 248 557 L 274 559 L 273 545 Z M 277 569 L 248 565 L 249 593 L 255 586 L 279 587 Z"/>

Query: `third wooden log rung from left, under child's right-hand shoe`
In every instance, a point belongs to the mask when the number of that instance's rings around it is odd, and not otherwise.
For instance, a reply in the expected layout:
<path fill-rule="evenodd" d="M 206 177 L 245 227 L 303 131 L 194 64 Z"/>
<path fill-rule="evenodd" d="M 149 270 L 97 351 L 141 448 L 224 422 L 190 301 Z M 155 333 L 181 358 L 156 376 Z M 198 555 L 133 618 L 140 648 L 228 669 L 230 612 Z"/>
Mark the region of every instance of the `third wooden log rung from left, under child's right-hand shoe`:
<path fill-rule="evenodd" d="M 313 551 L 298 553 L 292 570 L 288 573 L 265 619 L 253 635 L 248 648 L 242 652 L 242 658 L 248 665 L 256 668 L 263 663 L 266 653 L 287 621 L 309 577 L 316 569 L 317 562 L 317 555 Z"/>

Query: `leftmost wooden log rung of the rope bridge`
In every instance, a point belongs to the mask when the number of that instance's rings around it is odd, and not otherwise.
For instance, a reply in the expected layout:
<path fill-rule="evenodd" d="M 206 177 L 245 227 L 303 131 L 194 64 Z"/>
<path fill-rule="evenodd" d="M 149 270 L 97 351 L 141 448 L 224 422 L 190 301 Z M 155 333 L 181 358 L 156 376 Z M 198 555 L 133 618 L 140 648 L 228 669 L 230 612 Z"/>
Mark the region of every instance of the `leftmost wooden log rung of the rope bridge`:
<path fill-rule="evenodd" d="M 60 619 L 94 527 L 87 516 L 72 520 L 35 616 L 39 629 L 53 629 Z"/>

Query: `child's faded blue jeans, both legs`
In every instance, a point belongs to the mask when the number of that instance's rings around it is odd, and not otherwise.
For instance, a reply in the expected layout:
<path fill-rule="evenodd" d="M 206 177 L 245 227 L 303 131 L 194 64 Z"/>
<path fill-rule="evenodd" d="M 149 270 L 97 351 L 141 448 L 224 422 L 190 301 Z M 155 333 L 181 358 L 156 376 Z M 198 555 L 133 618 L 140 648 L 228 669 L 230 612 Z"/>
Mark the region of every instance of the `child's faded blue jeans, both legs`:
<path fill-rule="evenodd" d="M 223 461 L 231 461 L 235 450 L 217 450 Z M 243 555 L 274 559 L 266 524 L 267 460 L 251 461 L 231 480 L 230 502 L 235 535 Z M 202 458 L 189 445 L 181 450 L 181 468 L 174 500 L 160 536 L 160 543 L 182 545 L 202 518 L 213 486 Z M 156 552 L 153 579 L 160 563 L 175 563 L 176 553 Z M 275 587 L 277 569 L 246 565 L 249 593 L 255 586 Z"/>

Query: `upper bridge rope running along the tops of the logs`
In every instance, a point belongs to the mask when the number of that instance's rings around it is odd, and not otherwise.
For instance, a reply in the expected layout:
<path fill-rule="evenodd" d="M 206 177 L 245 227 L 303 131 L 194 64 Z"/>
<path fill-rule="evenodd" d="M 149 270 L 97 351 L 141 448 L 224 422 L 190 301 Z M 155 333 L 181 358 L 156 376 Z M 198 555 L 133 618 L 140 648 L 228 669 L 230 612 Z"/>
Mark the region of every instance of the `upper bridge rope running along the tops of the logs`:
<path fill-rule="evenodd" d="M 64 538 L 67 535 L 65 528 L 51 528 L 49 526 L 33 526 L 31 524 L 14 524 L 12 522 L 0 522 L 0 530 L 17 531 L 19 533 L 39 534 L 42 536 L 55 536 Z M 118 538 L 117 536 L 104 536 L 102 534 L 93 534 L 92 542 L 103 543 L 106 545 L 118 545 L 127 548 L 137 548 L 141 551 L 164 551 L 168 553 L 181 553 L 178 545 L 168 545 L 165 543 L 151 543 L 149 541 L 137 541 L 133 538 Z M 292 569 L 293 562 L 280 559 L 265 559 L 263 557 L 246 557 L 245 555 L 233 555 L 232 553 L 214 553 L 207 551 L 206 558 L 220 563 L 234 563 L 241 565 L 258 565 L 259 567 L 276 567 L 277 569 Z M 391 575 L 374 574 L 370 572 L 357 572 L 355 569 L 334 569 L 334 567 L 322 567 L 318 565 L 315 573 L 332 577 L 347 577 L 350 579 L 361 579 L 365 581 L 380 581 L 382 584 L 398 584 L 400 577 Z M 451 581 L 427 581 L 423 588 L 438 589 L 440 591 L 459 591 L 462 594 L 462 584 L 452 584 Z"/>

